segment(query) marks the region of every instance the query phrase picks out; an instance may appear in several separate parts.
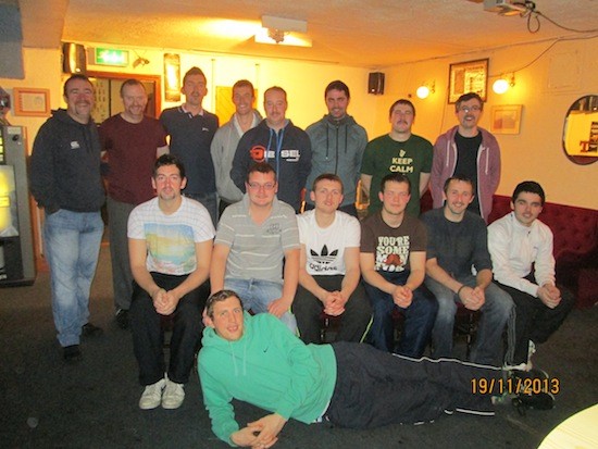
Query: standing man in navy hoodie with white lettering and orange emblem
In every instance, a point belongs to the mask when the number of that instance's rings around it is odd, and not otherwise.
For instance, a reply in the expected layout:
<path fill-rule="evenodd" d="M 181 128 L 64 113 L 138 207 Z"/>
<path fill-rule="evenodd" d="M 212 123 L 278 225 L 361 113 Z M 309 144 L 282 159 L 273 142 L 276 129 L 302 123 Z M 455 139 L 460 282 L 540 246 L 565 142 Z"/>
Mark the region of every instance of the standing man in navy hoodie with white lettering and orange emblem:
<path fill-rule="evenodd" d="M 282 87 L 274 86 L 264 92 L 265 120 L 239 140 L 231 177 L 245 192 L 251 165 L 271 164 L 278 176 L 278 199 L 299 212 L 301 191 L 311 170 L 311 144 L 306 132 L 286 119 L 287 107 L 287 92 Z"/>

